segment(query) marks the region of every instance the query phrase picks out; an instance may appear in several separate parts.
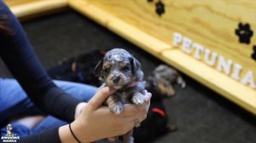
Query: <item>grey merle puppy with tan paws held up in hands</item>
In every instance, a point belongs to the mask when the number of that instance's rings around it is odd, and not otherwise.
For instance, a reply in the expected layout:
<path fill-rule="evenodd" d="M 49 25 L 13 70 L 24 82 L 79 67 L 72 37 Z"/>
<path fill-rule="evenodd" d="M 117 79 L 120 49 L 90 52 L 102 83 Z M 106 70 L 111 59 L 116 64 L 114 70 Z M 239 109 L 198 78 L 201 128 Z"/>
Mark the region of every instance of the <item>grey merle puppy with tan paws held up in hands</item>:
<path fill-rule="evenodd" d="M 117 89 L 105 103 L 110 112 L 121 113 L 125 103 L 143 104 L 143 95 L 146 94 L 143 71 L 138 60 L 125 49 L 108 51 L 96 66 L 95 75 L 104 82 L 102 86 Z M 135 121 L 135 126 L 140 126 L 139 121 Z M 133 142 L 132 129 L 123 136 L 123 142 Z"/>

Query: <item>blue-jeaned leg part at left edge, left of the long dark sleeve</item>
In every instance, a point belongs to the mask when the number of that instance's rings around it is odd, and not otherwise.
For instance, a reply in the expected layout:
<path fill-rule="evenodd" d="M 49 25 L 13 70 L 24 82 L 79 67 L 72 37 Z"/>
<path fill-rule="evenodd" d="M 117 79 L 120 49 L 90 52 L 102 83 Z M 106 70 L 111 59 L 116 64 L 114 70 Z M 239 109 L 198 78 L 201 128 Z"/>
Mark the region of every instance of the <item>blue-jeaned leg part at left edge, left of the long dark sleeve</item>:
<path fill-rule="evenodd" d="M 0 78 L 0 124 L 21 115 L 43 114 L 15 79 Z"/>

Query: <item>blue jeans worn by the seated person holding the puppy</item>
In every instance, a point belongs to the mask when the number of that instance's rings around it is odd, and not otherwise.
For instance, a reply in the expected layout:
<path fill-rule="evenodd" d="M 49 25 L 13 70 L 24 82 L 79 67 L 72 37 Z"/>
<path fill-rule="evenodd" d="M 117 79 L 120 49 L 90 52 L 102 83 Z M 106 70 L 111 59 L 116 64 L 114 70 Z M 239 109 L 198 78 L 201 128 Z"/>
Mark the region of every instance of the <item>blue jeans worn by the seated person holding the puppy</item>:
<path fill-rule="evenodd" d="M 66 91 L 68 94 L 72 94 L 73 97 L 88 102 L 91 97 L 96 94 L 96 87 L 85 85 L 81 83 L 72 83 L 54 80 L 55 84 Z M 43 115 L 37 106 L 32 103 L 20 84 L 15 79 L 1 78 L 0 77 L 0 125 L 1 135 L 6 134 L 6 126 L 3 126 L 3 121 L 14 116 L 22 115 Z M 20 123 L 10 123 L 13 126 L 13 132 L 19 136 L 26 136 L 36 134 L 44 129 L 52 129 L 67 124 L 66 122 L 47 116 L 41 123 L 33 128 L 29 129 Z"/>

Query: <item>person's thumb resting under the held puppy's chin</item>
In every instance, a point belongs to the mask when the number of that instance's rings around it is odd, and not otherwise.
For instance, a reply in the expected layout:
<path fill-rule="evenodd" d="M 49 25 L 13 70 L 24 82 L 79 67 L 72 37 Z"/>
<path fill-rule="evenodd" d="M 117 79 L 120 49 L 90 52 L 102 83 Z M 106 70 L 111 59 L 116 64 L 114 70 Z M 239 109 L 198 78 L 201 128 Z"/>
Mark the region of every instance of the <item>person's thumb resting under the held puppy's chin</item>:
<path fill-rule="evenodd" d="M 93 98 L 88 102 L 88 105 L 92 107 L 92 110 L 96 110 L 100 106 L 102 106 L 103 102 L 107 100 L 110 94 L 113 94 L 115 89 L 110 89 L 108 87 L 104 87 L 100 89 Z"/>

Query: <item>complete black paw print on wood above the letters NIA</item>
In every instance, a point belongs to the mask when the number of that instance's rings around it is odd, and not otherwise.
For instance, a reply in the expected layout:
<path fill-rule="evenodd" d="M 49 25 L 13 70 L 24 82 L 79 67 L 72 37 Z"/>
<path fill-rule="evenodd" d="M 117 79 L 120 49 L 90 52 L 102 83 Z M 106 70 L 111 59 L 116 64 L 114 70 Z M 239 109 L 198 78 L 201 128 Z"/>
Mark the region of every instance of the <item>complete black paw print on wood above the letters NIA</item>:
<path fill-rule="evenodd" d="M 238 28 L 236 29 L 236 35 L 239 37 L 240 43 L 251 43 L 251 37 L 253 37 L 253 31 L 250 29 L 249 24 L 239 23 Z"/>

